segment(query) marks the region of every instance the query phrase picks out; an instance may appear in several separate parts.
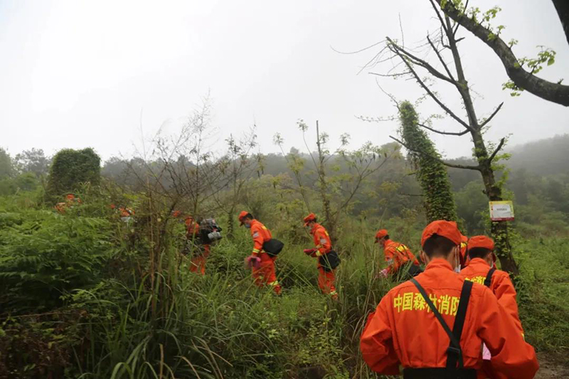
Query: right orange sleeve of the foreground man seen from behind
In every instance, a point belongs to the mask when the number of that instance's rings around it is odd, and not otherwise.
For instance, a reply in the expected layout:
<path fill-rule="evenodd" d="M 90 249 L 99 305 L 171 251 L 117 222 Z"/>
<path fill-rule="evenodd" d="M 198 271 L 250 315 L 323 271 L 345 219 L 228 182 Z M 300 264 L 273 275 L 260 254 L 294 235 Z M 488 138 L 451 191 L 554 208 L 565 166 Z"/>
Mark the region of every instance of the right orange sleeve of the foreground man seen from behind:
<path fill-rule="evenodd" d="M 492 355 L 492 368 L 508 378 L 533 378 L 539 368 L 536 351 L 523 340 L 521 331 L 511 322 L 506 309 L 486 287 L 481 301 L 477 334 Z"/>

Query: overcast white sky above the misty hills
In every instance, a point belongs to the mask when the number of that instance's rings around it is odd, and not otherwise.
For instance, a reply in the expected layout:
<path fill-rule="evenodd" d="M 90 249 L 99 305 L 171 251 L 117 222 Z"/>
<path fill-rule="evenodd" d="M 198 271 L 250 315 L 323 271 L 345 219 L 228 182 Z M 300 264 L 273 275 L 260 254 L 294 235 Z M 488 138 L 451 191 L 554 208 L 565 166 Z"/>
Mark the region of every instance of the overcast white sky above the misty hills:
<path fill-rule="evenodd" d="M 519 56 L 538 45 L 557 51 L 543 78 L 569 80 L 569 46 L 551 1 L 472 0 L 498 4 L 504 39 L 516 38 Z M 383 40 L 407 46 L 436 26 L 427 0 L 401 1 L 59 1 L 0 0 L 0 146 L 11 154 L 32 147 L 54 154 L 92 146 L 108 159 L 132 154 L 144 133 L 167 122 L 175 132 L 208 91 L 219 140 L 257 124 L 260 150 L 300 146 L 295 122 L 319 119 L 334 146 L 349 132 L 352 147 L 389 142 L 397 122 L 371 124 L 356 115 L 388 116 L 391 105 L 369 70 L 356 75 L 377 50 L 341 55 Z M 504 101 L 489 139 L 512 134 L 511 145 L 569 132 L 569 110 L 531 94 L 512 98 L 499 60 L 464 32 L 462 55 L 477 91 L 479 117 Z M 413 82 L 381 80 L 398 99 L 415 100 Z M 442 92 L 461 112 L 455 92 Z M 427 101 L 422 114 L 440 113 Z M 450 120 L 435 126 L 459 127 Z M 449 157 L 469 155 L 468 137 L 436 137 Z M 220 146 L 218 146 L 220 148 Z"/>

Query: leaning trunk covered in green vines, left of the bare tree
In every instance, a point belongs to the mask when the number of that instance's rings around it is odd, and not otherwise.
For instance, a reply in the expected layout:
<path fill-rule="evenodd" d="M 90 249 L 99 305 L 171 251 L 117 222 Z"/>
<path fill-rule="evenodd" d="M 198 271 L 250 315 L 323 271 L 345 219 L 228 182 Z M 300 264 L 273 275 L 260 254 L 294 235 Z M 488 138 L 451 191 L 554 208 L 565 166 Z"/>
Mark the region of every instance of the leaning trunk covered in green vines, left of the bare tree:
<path fill-rule="evenodd" d="M 402 102 L 399 107 L 401 134 L 408 157 L 415 166 L 424 196 L 425 213 L 429 222 L 435 220 L 457 220 L 457 210 L 450 187 L 447 168 L 440 161 L 440 154 L 427 134 L 419 129 L 419 117 L 410 102 Z M 415 151 L 421 151 L 421 154 Z M 435 158 L 439 158 L 438 160 Z"/>

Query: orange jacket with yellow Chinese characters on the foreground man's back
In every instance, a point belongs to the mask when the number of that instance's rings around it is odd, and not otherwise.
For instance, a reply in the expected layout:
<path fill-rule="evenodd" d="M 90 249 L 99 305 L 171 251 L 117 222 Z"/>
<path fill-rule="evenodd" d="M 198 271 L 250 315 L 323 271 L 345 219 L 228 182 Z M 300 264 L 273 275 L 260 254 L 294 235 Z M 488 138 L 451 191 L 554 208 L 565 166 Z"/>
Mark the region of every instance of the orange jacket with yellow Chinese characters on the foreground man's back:
<path fill-rule="evenodd" d="M 454 325 L 464 279 L 449 262 L 432 260 L 415 279 L 425 288 L 450 329 Z M 509 378 L 530 379 L 538 370 L 533 347 L 523 341 L 491 291 L 474 284 L 460 346 L 464 368 L 482 365 L 480 349 L 486 343 L 494 368 Z M 361 335 L 363 359 L 372 370 L 399 375 L 408 368 L 444 368 L 450 339 L 411 282 L 398 285 L 381 299 Z"/>

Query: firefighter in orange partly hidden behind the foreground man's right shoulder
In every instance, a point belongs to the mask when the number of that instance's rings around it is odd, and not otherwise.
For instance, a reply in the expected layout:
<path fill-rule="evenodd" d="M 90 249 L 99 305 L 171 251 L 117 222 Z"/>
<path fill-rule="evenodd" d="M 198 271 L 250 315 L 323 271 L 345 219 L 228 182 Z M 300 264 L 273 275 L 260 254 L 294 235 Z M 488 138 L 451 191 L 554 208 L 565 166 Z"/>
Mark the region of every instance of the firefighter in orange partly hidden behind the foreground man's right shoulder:
<path fill-rule="evenodd" d="M 468 241 L 468 267 L 462 269 L 460 276 L 466 280 L 489 287 L 496 295 L 498 303 L 504 307 L 511 316 L 520 333 L 523 334 L 521 321 L 516 302 L 516 289 L 507 272 L 494 268 L 496 255 L 494 255 L 494 240 L 485 235 L 477 235 Z M 494 372 L 490 364 L 490 354 L 484 347 L 484 364 L 479 372 L 479 378 L 505 378 L 498 372 Z"/>

